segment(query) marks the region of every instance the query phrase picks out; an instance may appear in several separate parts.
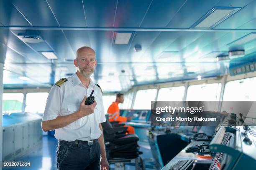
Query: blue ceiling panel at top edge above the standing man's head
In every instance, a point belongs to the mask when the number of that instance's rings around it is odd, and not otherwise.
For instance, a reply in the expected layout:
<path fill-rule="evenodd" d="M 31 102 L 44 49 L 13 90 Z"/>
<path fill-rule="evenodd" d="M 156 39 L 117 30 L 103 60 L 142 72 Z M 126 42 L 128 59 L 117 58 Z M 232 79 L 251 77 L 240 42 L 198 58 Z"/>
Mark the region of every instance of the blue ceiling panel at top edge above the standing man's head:
<path fill-rule="evenodd" d="M 117 0 L 83 0 L 88 27 L 113 27 Z"/>

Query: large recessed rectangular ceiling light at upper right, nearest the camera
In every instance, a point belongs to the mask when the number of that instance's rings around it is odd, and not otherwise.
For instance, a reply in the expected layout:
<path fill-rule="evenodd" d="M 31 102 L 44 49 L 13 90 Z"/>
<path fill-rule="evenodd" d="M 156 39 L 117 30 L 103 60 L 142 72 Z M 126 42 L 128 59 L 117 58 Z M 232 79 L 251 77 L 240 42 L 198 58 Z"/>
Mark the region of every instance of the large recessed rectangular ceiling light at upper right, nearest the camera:
<path fill-rule="evenodd" d="M 214 7 L 192 25 L 192 28 L 214 28 L 240 9 L 241 7 Z"/>

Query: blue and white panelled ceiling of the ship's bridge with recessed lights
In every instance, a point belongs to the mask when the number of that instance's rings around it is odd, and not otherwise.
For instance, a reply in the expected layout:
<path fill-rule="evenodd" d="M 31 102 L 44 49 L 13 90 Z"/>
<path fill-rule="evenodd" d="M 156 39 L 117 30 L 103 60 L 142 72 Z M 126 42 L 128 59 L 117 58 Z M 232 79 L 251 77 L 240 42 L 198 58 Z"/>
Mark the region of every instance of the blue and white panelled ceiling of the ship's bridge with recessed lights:
<path fill-rule="evenodd" d="M 0 0 L 4 87 L 51 87 L 76 71 L 82 46 L 105 92 L 224 75 L 230 61 L 217 55 L 256 52 L 255 11 L 256 0 Z"/>

